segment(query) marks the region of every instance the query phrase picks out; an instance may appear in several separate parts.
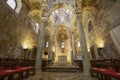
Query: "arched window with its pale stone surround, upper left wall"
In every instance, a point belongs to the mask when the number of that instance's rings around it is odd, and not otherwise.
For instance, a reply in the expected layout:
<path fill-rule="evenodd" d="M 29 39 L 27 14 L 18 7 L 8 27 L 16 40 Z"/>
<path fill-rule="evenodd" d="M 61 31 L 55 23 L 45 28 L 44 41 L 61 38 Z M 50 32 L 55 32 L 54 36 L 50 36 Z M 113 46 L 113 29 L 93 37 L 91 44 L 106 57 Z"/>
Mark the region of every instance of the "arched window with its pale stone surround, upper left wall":
<path fill-rule="evenodd" d="M 15 10 L 17 14 L 20 13 L 20 10 L 22 8 L 22 2 L 21 0 L 7 0 L 7 4 Z"/>

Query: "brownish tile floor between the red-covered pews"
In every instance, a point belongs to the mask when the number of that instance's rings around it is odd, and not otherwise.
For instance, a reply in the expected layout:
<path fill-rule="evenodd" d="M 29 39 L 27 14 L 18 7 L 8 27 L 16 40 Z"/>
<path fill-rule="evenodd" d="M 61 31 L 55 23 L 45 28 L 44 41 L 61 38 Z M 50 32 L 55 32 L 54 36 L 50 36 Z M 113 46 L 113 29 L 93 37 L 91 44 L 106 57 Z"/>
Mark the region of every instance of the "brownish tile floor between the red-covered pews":
<path fill-rule="evenodd" d="M 26 80 L 97 80 L 81 72 L 37 72 Z"/>

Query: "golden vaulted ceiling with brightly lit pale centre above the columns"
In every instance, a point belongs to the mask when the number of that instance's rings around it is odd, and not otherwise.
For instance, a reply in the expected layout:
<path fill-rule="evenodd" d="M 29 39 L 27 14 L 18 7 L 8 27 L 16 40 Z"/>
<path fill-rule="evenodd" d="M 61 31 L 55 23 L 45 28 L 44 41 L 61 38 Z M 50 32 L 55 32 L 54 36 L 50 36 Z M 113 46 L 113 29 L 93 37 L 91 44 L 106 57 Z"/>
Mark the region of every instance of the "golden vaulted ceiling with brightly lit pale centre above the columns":
<path fill-rule="evenodd" d="M 24 0 L 25 3 L 29 7 L 28 16 L 33 20 L 33 22 L 37 22 L 41 25 L 45 20 L 48 20 L 47 16 L 50 15 L 48 21 L 48 27 L 46 28 L 46 39 L 50 37 L 50 31 L 52 31 L 53 27 L 56 25 L 64 24 L 69 26 L 73 33 L 75 34 L 76 40 L 78 39 L 78 29 L 75 23 L 75 14 L 82 14 L 82 10 L 84 8 L 89 9 L 88 7 L 96 7 L 99 8 L 99 3 L 101 0 L 75 0 L 75 6 L 57 4 L 52 8 L 49 8 L 51 3 L 48 3 L 48 0 Z M 56 0 L 57 1 L 57 0 Z M 65 0 L 66 1 L 66 0 Z M 104 1 L 104 0 L 102 0 Z M 74 9 L 74 10 L 73 10 Z M 70 24 L 71 23 L 71 24 Z M 74 27 L 74 28 L 73 28 Z M 58 35 L 63 35 L 62 30 L 59 30 Z M 66 34 L 67 35 L 67 34 Z M 68 36 L 66 36 L 68 37 Z"/>

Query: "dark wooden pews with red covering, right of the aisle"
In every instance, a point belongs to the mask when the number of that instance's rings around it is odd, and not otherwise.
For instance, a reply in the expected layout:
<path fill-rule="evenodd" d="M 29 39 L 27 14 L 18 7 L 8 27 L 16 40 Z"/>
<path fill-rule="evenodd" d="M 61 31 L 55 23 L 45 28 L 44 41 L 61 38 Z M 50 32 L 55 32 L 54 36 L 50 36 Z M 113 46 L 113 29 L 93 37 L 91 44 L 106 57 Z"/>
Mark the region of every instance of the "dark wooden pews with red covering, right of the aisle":
<path fill-rule="evenodd" d="M 95 60 L 91 63 L 91 76 L 98 80 L 120 80 L 120 60 Z"/>

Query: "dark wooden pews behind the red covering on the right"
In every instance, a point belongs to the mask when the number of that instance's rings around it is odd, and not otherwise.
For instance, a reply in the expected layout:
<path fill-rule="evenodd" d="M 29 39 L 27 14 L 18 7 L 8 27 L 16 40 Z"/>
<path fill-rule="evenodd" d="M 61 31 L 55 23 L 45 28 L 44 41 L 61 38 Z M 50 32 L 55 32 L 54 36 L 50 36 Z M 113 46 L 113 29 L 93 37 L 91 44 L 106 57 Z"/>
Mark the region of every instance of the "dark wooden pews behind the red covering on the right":
<path fill-rule="evenodd" d="M 83 69 L 83 61 L 75 60 L 74 63 L 79 66 L 79 69 Z M 113 68 L 116 72 L 120 72 L 120 60 L 118 59 L 106 59 L 106 60 L 90 60 L 91 67 L 97 68 Z"/>

